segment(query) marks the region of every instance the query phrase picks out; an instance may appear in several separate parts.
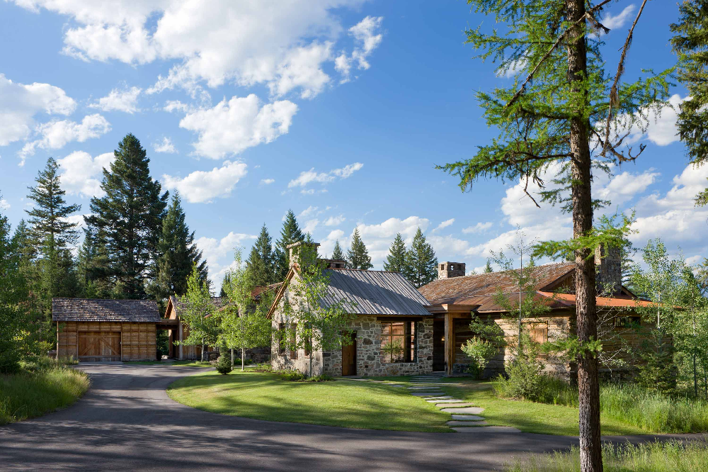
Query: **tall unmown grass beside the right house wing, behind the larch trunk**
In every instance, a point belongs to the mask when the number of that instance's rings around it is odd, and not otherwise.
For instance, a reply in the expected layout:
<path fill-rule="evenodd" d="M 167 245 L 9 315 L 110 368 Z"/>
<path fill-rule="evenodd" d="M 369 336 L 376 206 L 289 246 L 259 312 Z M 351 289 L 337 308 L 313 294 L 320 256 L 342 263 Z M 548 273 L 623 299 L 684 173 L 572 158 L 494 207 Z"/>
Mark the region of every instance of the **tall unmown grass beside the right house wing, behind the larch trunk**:
<path fill-rule="evenodd" d="M 495 384 L 497 395 L 513 398 L 507 383 Z M 532 398 L 539 403 L 578 407 L 578 390 L 559 378 L 542 376 Z M 685 397 L 670 397 L 632 383 L 600 386 L 600 412 L 644 429 L 646 432 L 708 432 L 708 402 Z"/>

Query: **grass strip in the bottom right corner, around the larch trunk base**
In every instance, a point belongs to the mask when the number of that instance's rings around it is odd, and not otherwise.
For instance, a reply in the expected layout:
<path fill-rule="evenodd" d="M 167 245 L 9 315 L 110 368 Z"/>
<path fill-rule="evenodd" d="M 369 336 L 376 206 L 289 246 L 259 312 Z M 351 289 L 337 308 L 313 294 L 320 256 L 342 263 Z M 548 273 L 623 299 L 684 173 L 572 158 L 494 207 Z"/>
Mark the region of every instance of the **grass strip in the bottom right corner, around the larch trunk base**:
<path fill-rule="evenodd" d="M 708 463 L 708 445 L 703 442 L 652 442 L 632 446 L 605 445 L 605 472 L 702 472 Z M 534 454 L 518 459 L 508 472 L 573 472 L 580 471 L 577 447 L 570 452 Z"/>

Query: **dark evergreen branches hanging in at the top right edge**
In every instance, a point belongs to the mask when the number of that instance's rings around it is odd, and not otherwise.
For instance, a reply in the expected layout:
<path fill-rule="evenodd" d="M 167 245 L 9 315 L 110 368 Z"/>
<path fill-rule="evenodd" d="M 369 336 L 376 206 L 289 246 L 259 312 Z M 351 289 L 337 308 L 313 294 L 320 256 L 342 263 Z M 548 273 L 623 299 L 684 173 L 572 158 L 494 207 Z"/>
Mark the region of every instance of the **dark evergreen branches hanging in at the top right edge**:
<path fill-rule="evenodd" d="M 708 162 L 708 1 L 686 0 L 679 4 L 679 23 L 670 29 L 673 51 L 678 55 L 676 76 L 688 90 L 680 105 L 678 135 L 692 164 Z M 708 204 L 708 189 L 696 196 L 697 205 Z"/>

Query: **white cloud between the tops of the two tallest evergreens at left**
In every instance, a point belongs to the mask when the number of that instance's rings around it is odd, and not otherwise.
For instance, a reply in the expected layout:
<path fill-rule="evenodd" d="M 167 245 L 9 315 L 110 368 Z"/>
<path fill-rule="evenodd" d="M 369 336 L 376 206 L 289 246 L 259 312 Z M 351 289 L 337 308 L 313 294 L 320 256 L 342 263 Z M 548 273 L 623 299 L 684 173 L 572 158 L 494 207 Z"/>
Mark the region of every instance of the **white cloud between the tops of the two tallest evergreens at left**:
<path fill-rule="evenodd" d="M 84 151 L 76 151 L 64 159 L 57 159 L 57 164 L 64 172 L 60 175 L 62 189 L 70 195 L 81 195 L 85 198 L 105 195 L 101 190 L 103 168 L 108 169 L 115 159 L 113 152 L 91 157 Z"/>

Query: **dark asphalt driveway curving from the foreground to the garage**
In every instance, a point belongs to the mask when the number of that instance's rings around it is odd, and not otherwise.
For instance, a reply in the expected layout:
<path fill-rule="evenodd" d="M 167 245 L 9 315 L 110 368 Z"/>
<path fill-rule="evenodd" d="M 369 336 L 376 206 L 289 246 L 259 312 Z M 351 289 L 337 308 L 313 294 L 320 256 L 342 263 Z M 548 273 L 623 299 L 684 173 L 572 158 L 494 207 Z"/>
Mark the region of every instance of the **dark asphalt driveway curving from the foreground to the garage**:
<path fill-rule="evenodd" d="M 0 470 L 494 471 L 513 456 L 577 444 L 525 433 L 418 433 L 267 422 L 171 400 L 180 366 L 84 365 L 71 407 L 0 427 Z"/>

